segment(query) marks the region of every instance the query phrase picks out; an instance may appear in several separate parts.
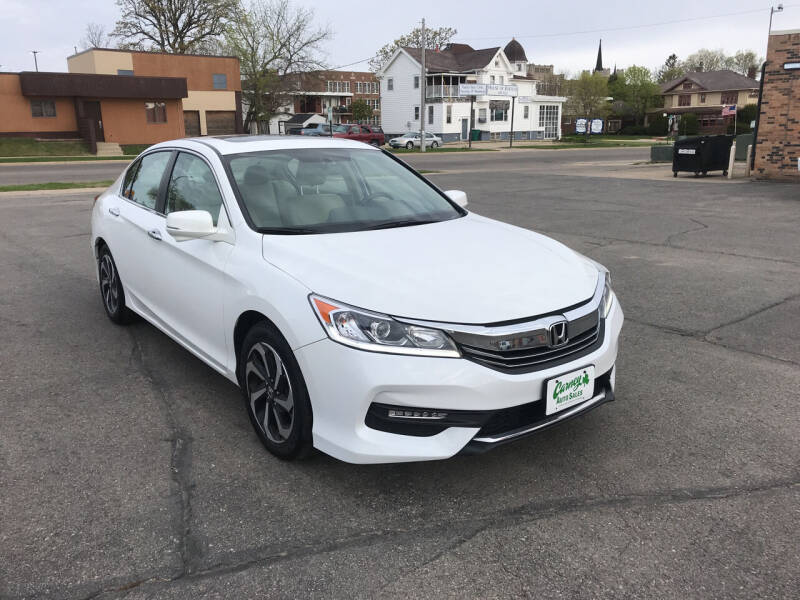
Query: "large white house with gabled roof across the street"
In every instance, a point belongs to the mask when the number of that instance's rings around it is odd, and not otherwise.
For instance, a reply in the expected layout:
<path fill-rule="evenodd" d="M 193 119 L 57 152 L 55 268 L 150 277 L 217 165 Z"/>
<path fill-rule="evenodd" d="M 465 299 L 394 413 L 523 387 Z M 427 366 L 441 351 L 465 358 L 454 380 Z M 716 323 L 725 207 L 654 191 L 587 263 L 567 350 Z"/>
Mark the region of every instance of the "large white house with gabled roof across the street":
<path fill-rule="evenodd" d="M 425 114 L 420 112 L 421 50 L 398 48 L 378 72 L 381 83 L 381 117 L 388 135 L 425 131 L 445 141 L 466 140 L 471 129 L 481 140 L 546 140 L 561 137 L 561 110 L 566 98 L 540 96 L 536 79 L 528 75 L 525 52 L 511 40 L 505 49 L 474 50 L 450 44 L 444 50 L 427 50 Z M 487 94 L 476 96 L 470 114 L 470 97 L 460 96 L 460 83 L 484 84 Z M 511 94 L 516 93 L 513 99 Z"/>

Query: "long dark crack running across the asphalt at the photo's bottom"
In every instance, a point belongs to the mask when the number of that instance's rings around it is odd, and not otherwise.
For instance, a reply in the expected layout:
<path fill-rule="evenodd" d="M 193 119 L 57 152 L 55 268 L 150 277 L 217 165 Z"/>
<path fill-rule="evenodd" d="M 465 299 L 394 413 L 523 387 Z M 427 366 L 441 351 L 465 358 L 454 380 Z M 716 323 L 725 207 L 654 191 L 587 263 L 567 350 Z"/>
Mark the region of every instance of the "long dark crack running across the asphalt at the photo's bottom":
<path fill-rule="evenodd" d="M 89 598 L 98 598 L 112 594 L 118 595 L 123 593 L 127 595 L 131 590 L 145 585 L 150 586 L 154 592 L 157 592 L 158 589 L 164 586 L 169 586 L 180 581 L 202 581 L 223 575 L 241 573 L 253 567 L 270 566 L 290 560 L 330 554 L 342 550 L 368 548 L 383 541 L 392 541 L 395 543 L 402 543 L 404 541 L 413 542 L 417 541 L 420 537 L 445 537 L 452 534 L 453 530 L 461 531 L 456 539 L 448 544 L 446 548 L 436 552 L 421 563 L 421 566 L 424 566 L 459 548 L 482 532 L 491 529 L 504 529 L 512 526 L 529 524 L 548 517 L 581 511 L 593 511 L 606 508 L 625 509 L 637 506 L 657 507 L 696 501 L 724 500 L 793 488 L 800 488 L 800 472 L 790 477 L 747 485 L 709 488 L 673 488 L 656 492 L 618 494 L 606 497 L 587 496 L 581 498 L 556 498 L 552 500 L 536 501 L 501 510 L 494 514 L 454 519 L 431 527 L 368 530 L 333 540 L 311 540 L 300 544 L 295 543 L 283 546 L 252 548 L 247 550 L 247 554 L 243 556 L 243 560 L 238 562 L 220 562 L 205 568 L 197 569 L 193 572 L 185 571 L 174 576 L 133 580 L 122 586 L 103 587 L 93 594 L 81 596 L 81 598 L 88 600 Z M 67 594 L 62 594 L 61 597 L 67 597 Z"/>

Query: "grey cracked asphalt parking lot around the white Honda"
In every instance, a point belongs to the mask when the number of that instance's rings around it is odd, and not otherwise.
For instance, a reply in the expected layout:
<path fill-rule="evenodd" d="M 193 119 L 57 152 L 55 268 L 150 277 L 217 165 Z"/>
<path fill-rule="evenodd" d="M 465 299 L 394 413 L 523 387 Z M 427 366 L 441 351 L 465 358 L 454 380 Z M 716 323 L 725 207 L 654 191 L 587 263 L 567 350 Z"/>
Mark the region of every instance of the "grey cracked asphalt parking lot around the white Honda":
<path fill-rule="evenodd" d="M 96 192 L 0 194 L 0 597 L 800 595 L 800 190 L 570 152 L 408 157 L 626 314 L 615 402 L 432 463 L 273 458 L 232 384 L 105 317 Z"/>

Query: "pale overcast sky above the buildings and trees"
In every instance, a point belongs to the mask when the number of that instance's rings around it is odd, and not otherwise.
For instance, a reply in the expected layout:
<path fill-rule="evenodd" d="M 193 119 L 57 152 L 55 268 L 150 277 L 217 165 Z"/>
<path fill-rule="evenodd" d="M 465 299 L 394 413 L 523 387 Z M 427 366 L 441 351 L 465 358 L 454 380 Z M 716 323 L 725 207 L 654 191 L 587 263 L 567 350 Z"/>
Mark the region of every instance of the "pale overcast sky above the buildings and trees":
<path fill-rule="evenodd" d="M 702 47 L 727 52 L 752 49 L 763 55 L 773 4 L 758 0 L 297 3 L 316 5 L 316 20 L 333 29 L 333 39 L 325 48 L 325 60 L 332 67 L 369 58 L 424 17 L 429 26 L 456 28 L 456 41 L 474 48 L 504 46 L 514 36 L 529 61 L 572 73 L 594 66 L 600 38 L 608 67 L 616 63 L 654 68 L 672 52 L 685 57 Z M 784 6 L 784 12 L 775 15 L 773 30 L 800 29 L 800 2 Z M 30 51 L 39 50 L 41 71 L 66 71 L 66 57 L 80 45 L 86 24 L 96 22 L 110 30 L 117 15 L 113 0 L 0 0 L 0 70 L 32 71 Z M 692 20 L 675 22 L 683 19 Z M 348 68 L 366 70 L 367 66 L 362 62 Z"/>

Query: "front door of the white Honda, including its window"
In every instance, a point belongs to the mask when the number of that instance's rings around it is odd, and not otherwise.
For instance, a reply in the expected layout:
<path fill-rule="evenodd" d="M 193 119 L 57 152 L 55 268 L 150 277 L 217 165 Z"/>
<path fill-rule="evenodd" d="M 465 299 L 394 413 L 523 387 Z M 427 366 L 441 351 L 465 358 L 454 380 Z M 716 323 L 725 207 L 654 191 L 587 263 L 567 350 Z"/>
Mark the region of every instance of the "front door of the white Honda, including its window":
<path fill-rule="evenodd" d="M 163 212 L 205 210 L 214 225 L 230 223 L 211 165 L 198 154 L 179 151 L 166 178 Z M 151 284 L 163 323 L 196 353 L 224 369 L 224 291 L 229 289 L 225 265 L 229 242 L 194 239 L 178 242 L 162 217 L 155 256 L 158 268 Z"/>

